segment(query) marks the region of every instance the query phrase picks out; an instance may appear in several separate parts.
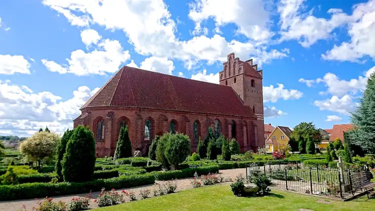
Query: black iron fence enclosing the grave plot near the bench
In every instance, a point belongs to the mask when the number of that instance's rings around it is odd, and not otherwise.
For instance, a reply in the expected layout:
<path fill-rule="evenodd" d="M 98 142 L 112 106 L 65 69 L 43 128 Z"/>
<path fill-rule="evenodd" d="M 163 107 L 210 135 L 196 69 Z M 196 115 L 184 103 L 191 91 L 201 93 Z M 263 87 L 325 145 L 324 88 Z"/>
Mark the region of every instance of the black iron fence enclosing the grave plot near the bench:
<path fill-rule="evenodd" d="M 350 174 L 357 169 L 345 170 L 340 174 L 338 169 L 303 163 L 283 164 L 254 163 L 246 166 L 248 182 L 256 175 L 265 175 L 277 188 L 297 192 L 348 198 L 353 194 Z"/>

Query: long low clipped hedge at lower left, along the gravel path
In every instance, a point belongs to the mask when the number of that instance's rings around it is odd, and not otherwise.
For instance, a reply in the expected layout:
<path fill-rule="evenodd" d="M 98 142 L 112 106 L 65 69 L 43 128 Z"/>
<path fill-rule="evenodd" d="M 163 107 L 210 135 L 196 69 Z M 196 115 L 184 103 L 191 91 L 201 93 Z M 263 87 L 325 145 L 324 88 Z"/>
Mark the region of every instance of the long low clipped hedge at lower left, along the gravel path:
<path fill-rule="evenodd" d="M 97 179 L 88 182 L 60 182 L 60 183 L 23 183 L 16 185 L 0 185 L 0 200 L 18 200 L 28 198 L 42 198 L 45 196 L 70 195 L 99 191 L 101 188 L 128 188 L 153 184 L 155 177 L 151 173 L 130 176 L 119 176 L 110 179 Z"/>

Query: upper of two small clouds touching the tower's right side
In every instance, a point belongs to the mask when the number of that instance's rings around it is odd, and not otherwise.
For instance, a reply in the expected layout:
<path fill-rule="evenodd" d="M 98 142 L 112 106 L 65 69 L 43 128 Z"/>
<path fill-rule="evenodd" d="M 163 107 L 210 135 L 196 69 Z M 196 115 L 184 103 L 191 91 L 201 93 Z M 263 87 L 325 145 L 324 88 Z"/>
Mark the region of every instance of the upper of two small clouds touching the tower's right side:
<path fill-rule="evenodd" d="M 302 92 L 295 90 L 295 89 L 284 89 L 283 84 L 277 84 L 278 87 L 273 87 L 273 85 L 269 85 L 269 87 L 263 86 L 263 102 L 272 102 L 275 103 L 279 99 L 283 100 L 293 100 L 299 99 L 302 97 Z"/>

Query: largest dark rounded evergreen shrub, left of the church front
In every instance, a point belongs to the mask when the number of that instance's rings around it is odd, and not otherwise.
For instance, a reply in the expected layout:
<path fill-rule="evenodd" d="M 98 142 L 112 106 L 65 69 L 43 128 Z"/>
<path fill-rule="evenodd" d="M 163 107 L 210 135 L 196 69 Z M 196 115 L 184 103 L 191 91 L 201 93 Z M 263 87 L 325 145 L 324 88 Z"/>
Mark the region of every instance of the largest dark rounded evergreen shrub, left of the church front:
<path fill-rule="evenodd" d="M 79 125 L 66 144 L 62 159 L 64 181 L 82 182 L 92 179 L 95 166 L 95 140 L 91 131 Z"/>

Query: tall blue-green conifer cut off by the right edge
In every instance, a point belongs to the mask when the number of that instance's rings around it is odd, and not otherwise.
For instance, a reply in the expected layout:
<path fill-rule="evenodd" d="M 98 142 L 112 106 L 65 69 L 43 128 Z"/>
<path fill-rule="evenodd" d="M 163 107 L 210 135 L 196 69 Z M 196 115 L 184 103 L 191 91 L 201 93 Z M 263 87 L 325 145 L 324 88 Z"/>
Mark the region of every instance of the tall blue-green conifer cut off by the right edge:
<path fill-rule="evenodd" d="M 367 80 L 363 96 L 359 99 L 357 110 L 351 114 L 354 132 L 350 133 L 350 142 L 360 146 L 364 152 L 375 153 L 375 74 Z"/>

